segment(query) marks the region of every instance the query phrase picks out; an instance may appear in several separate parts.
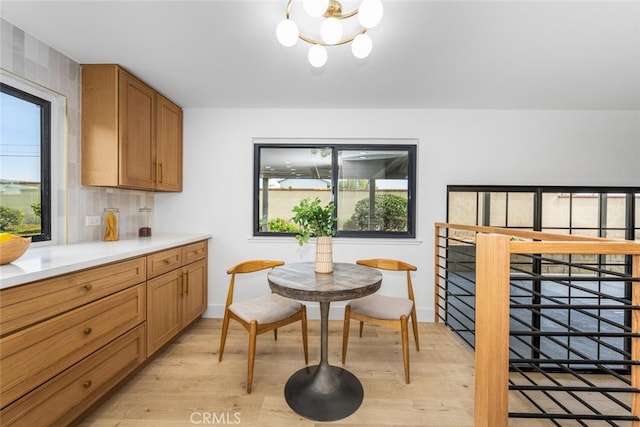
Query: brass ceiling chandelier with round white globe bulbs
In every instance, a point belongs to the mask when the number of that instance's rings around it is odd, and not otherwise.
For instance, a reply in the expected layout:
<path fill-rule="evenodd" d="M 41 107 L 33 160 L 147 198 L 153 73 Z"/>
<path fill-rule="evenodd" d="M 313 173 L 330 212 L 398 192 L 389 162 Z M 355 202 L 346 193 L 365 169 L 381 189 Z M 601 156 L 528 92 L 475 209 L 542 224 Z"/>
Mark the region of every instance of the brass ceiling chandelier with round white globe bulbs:
<path fill-rule="evenodd" d="M 285 19 L 280 21 L 276 28 L 276 37 L 280 44 L 285 47 L 291 47 L 301 39 L 309 44 L 311 48 L 307 58 L 309 63 L 314 67 L 322 67 L 327 62 L 326 46 L 338 46 L 351 43 L 351 52 L 356 58 L 362 59 L 369 56 L 373 48 L 373 42 L 367 30 L 375 27 L 382 20 L 383 8 L 380 0 L 362 0 L 360 7 L 348 12 L 342 12 L 342 5 L 336 0 L 298 0 L 302 1 L 304 10 L 312 18 L 323 18 L 319 25 L 319 38 L 305 35 L 298 29 L 298 25 L 291 18 L 291 6 L 294 0 L 287 3 L 287 12 Z M 343 21 L 349 21 L 349 18 L 357 16 L 359 26 L 357 26 L 351 35 L 344 36 Z M 299 22 L 304 19 L 300 17 Z M 317 20 L 308 24 L 315 24 Z"/>

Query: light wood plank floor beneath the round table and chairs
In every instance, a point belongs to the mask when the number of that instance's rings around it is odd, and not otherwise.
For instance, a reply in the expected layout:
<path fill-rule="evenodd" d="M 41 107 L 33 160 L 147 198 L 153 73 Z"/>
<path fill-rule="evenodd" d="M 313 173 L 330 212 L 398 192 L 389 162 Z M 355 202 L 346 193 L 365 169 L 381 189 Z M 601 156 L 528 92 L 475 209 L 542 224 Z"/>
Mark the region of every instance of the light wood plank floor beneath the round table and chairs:
<path fill-rule="evenodd" d="M 364 401 L 333 425 L 473 426 L 473 353 L 443 325 L 420 324 L 411 384 L 403 378 L 399 333 L 352 322 L 345 367 L 362 382 Z M 202 319 L 93 411 L 83 426 L 315 426 L 287 405 L 283 388 L 303 368 L 300 326 L 258 337 L 253 392 L 247 394 L 247 333 L 231 323 L 218 362 L 220 319 Z M 340 365 L 342 321 L 329 323 L 329 363 Z M 309 322 L 309 363 L 320 359 L 320 323 Z M 534 425 L 531 423 L 528 426 Z"/>

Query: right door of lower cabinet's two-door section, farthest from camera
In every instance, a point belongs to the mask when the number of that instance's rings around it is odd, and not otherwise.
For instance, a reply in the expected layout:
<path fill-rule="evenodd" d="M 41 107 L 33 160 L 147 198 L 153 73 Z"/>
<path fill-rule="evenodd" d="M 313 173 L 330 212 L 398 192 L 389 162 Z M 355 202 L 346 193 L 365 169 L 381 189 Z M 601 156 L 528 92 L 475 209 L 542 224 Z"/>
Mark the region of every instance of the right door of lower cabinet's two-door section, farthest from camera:
<path fill-rule="evenodd" d="M 207 262 L 196 261 L 183 269 L 182 324 L 186 326 L 207 308 Z"/>

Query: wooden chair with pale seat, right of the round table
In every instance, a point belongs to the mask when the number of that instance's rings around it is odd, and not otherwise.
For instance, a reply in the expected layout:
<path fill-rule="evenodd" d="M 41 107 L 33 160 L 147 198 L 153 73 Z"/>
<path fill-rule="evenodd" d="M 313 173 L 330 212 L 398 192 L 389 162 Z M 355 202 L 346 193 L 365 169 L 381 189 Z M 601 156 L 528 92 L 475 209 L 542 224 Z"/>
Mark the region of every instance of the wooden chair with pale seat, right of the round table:
<path fill-rule="evenodd" d="M 351 319 L 360 321 L 360 337 L 362 337 L 364 322 L 370 322 L 376 325 L 400 330 L 402 334 L 404 379 L 405 382 L 409 384 L 409 316 L 411 316 L 416 350 L 420 351 L 416 305 L 413 296 L 413 287 L 411 286 L 411 272 L 416 271 L 417 268 L 402 261 L 385 258 L 362 259 L 356 261 L 356 264 L 366 265 L 381 270 L 406 271 L 408 298 L 389 297 L 375 293 L 349 301 L 344 310 L 342 364 L 344 365 L 347 358 L 347 343 L 349 341 L 349 325 Z"/>

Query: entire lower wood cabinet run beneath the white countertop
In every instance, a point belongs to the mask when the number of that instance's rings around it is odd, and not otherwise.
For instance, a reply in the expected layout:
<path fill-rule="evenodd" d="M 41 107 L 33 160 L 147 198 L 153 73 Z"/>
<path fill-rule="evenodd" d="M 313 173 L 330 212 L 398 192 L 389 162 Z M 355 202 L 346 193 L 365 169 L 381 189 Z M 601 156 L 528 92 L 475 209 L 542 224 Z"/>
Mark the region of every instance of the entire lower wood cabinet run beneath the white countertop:
<path fill-rule="evenodd" d="M 198 319 L 207 243 L 0 290 L 2 425 L 76 421 Z"/>

